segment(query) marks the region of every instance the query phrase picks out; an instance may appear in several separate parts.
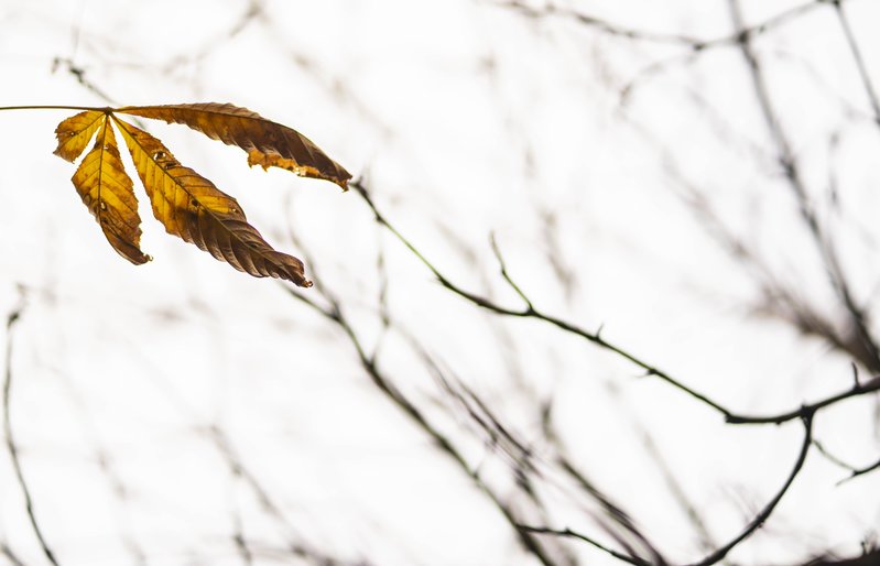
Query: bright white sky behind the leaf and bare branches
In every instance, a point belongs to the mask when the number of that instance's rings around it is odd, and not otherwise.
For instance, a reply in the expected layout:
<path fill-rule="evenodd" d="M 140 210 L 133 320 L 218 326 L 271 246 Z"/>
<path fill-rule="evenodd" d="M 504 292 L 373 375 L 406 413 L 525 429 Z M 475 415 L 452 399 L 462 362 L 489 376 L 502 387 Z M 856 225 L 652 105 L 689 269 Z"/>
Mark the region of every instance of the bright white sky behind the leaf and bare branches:
<path fill-rule="evenodd" d="M 742 3 L 749 23 L 801 4 Z M 111 104 L 65 62 L 112 104 L 243 106 L 363 175 L 395 227 L 467 290 L 519 306 L 498 273 L 493 233 L 541 309 L 590 330 L 604 325 L 609 340 L 737 411 L 787 411 L 850 385 L 849 357 L 758 313 L 753 273 L 707 233 L 676 183 L 697 187 L 804 301 L 839 312 L 736 46 L 685 61 L 686 48 L 491 1 L 254 6 L 258 15 L 242 20 L 245 1 L 0 0 L 0 106 Z M 664 34 L 732 31 L 726 0 L 556 6 Z M 846 6 L 880 83 L 880 4 Z M 756 51 L 821 220 L 870 307 L 880 282 L 880 130 L 839 22 L 819 7 L 758 37 Z M 165 235 L 143 196 L 142 247 L 155 259 L 134 268 L 119 258 L 69 183 L 75 165 L 52 155 L 54 128 L 69 113 L 0 112 L 0 314 L 19 304 L 19 289 L 26 305 L 14 330 L 11 418 L 61 564 L 300 564 L 290 541 L 347 564 L 535 564 L 461 468 L 373 387 L 338 327 L 276 282 Z M 585 511 L 595 504 L 576 501 L 557 477 L 544 404 L 572 460 L 676 562 L 705 549 L 645 433 L 717 543 L 789 474 L 796 422 L 725 425 L 607 351 L 443 290 L 354 192 L 249 170 L 239 150 L 186 128 L 146 127 L 233 195 L 278 249 L 308 255 L 308 273 L 338 297 L 365 347 L 380 346 L 382 371 L 523 513 L 507 460 L 410 338 L 532 445 L 551 510 L 532 524 L 613 544 Z M 379 306 L 385 279 L 390 330 Z M 326 303 L 318 290 L 304 294 Z M 863 466 L 878 458 L 877 429 L 876 403 L 861 399 L 821 413 L 815 434 Z M 271 505 L 230 470 L 222 446 Z M 846 474 L 811 451 L 765 527 L 731 559 L 858 552 L 877 536 L 880 472 L 836 486 Z M 44 560 L 6 451 L 0 544 L 24 564 Z M 585 544 L 565 548 L 584 564 L 618 564 Z"/>

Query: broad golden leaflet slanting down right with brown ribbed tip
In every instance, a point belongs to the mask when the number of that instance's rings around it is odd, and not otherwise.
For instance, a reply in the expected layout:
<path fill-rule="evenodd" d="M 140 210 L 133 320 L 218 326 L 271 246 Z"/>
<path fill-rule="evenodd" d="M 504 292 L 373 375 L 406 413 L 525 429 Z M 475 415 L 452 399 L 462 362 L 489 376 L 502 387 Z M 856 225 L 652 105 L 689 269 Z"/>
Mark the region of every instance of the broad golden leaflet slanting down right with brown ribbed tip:
<path fill-rule="evenodd" d="M 305 279 L 303 262 L 272 249 L 248 224 L 235 198 L 181 165 L 157 139 L 116 116 L 112 119 L 122 132 L 153 215 L 169 233 L 253 276 L 312 285 Z"/>

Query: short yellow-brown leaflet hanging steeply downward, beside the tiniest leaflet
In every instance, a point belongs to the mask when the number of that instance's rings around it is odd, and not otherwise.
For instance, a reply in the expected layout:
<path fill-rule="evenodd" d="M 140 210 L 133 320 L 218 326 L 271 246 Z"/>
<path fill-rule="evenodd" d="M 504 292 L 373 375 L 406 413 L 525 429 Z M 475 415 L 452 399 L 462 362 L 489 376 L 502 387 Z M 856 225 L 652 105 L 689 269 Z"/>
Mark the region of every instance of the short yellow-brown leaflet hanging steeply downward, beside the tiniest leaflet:
<path fill-rule="evenodd" d="M 110 121 L 105 115 L 101 117 L 104 120 L 99 122 L 95 146 L 86 154 L 72 181 L 110 246 L 120 255 L 140 265 L 150 261 L 150 257 L 140 249 L 138 198 L 131 178 L 122 167 Z"/>

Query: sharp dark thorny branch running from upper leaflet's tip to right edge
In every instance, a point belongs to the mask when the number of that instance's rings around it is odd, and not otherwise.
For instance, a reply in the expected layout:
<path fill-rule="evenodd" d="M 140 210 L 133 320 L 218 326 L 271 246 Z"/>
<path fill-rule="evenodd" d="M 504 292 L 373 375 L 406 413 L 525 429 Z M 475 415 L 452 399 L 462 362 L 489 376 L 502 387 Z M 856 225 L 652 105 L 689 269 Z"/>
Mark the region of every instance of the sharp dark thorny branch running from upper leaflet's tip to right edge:
<path fill-rule="evenodd" d="M 468 302 L 479 307 L 482 307 L 498 315 L 512 316 L 519 318 L 533 318 L 536 320 L 542 320 L 559 328 L 563 331 L 573 334 L 575 336 L 579 336 L 580 338 L 584 338 L 585 340 L 593 342 L 602 349 L 611 351 L 617 356 L 643 369 L 645 371 L 645 377 L 652 377 L 652 375 L 656 377 L 662 381 L 669 383 L 670 385 L 674 387 L 675 389 L 687 394 L 688 396 L 696 399 L 704 405 L 724 415 L 725 421 L 730 424 L 771 424 L 771 423 L 782 424 L 789 421 L 794 421 L 796 418 L 804 418 L 807 416 L 812 416 L 816 411 L 824 409 L 828 405 L 836 404 L 843 400 L 850 399 L 854 396 L 865 395 L 867 393 L 873 393 L 880 390 L 880 377 L 878 377 L 868 381 L 867 383 L 856 382 L 850 389 L 844 392 L 830 395 L 815 403 L 802 405 L 800 409 L 789 411 L 785 413 L 779 413 L 773 415 L 746 415 L 746 414 L 735 413 L 734 411 L 727 409 L 720 403 L 714 401 L 709 396 L 692 389 L 688 385 L 685 385 L 682 381 L 673 378 L 671 374 L 659 369 L 654 364 L 639 358 L 638 356 L 629 352 L 622 347 L 606 340 L 601 336 L 601 328 L 599 328 L 599 330 L 595 333 L 591 333 L 573 323 L 547 315 L 535 308 L 533 303 L 528 298 L 528 296 L 524 295 L 522 290 L 515 283 L 512 282 L 509 273 L 507 272 L 507 266 L 504 265 L 503 259 L 499 254 L 497 246 L 493 247 L 493 250 L 501 265 L 502 276 L 504 277 L 504 281 L 508 282 L 508 284 L 511 284 L 514 292 L 517 292 L 517 294 L 520 295 L 521 298 L 523 298 L 525 307 L 522 309 L 509 308 L 499 305 L 498 303 L 495 303 L 489 298 L 486 298 L 484 296 L 474 294 L 469 291 L 461 289 L 460 286 L 453 283 L 443 273 L 441 273 L 439 270 L 436 266 L 434 266 L 434 264 L 431 263 L 431 261 L 428 261 L 427 258 L 425 258 L 422 254 L 422 252 L 420 252 L 419 249 L 415 248 L 415 246 L 412 242 L 410 242 L 401 232 L 396 230 L 396 228 L 393 227 L 393 225 L 389 222 L 388 219 L 385 219 L 385 217 L 376 207 L 376 204 L 372 202 L 366 186 L 362 184 L 361 181 L 359 179 L 355 181 L 350 183 L 349 186 L 354 188 L 355 192 L 361 196 L 365 203 L 367 203 L 367 205 L 370 207 L 372 214 L 376 217 L 376 221 L 384 226 L 391 233 L 393 233 L 394 237 L 398 238 L 398 240 L 400 240 L 401 243 L 403 243 L 434 274 L 434 276 L 437 277 L 437 281 L 448 291 L 453 292 L 454 294 L 467 300 Z"/>

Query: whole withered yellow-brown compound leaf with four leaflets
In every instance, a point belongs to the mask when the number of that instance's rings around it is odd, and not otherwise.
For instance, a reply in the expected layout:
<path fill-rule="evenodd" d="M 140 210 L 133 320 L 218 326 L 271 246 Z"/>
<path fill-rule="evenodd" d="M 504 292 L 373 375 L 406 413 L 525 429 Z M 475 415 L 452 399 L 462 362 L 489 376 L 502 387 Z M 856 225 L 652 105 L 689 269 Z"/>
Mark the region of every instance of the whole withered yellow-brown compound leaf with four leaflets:
<path fill-rule="evenodd" d="M 348 188 L 351 175 L 301 133 L 232 105 L 198 104 L 115 108 L 52 107 L 83 110 L 55 130 L 55 153 L 75 161 L 97 133 L 72 181 L 95 216 L 107 241 L 132 263 L 150 261 L 140 249 L 141 218 L 131 178 L 126 174 L 113 134 L 116 126 L 146 189 L 153 215 L 169 233 L 195 243 L 218 260 L 258 277 L 272 276 L 311 286 L 303 263 L 274 250 L 248 224 L 231 196 L 195 171 L 184 167 L 161 141 L 122 121 L 117 113 L 183 123 L 209 138 L 238 145 L 250 165 L 275 166 Z"/>

